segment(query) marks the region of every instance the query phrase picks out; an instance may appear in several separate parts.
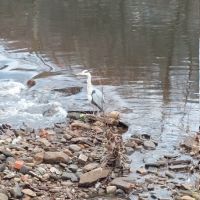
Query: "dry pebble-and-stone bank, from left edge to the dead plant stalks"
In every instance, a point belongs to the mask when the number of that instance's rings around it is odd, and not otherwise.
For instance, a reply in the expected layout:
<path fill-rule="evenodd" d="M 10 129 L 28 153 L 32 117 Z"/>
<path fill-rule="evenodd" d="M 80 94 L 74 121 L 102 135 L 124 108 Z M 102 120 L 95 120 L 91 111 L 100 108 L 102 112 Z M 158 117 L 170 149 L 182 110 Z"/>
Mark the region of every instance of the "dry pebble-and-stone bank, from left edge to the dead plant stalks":
<path fill-rule="evenodd" d="M 52 129 L 0 127 L 1 200 L 127 197 L 135 186 L 125 179 L 127 127 L 119 114 L 69 118 Z"/>

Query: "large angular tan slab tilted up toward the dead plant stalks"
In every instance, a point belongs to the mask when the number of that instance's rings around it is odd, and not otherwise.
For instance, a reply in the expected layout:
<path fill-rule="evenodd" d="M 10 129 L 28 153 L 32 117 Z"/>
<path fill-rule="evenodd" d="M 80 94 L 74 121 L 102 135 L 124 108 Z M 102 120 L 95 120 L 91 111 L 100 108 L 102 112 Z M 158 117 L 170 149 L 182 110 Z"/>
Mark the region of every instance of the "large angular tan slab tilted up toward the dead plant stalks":
<path fill-rule="evenodd" d="M 80 176 L 80 185 L 90 185 L 99 179 L 106 178 L 110 173 L 110 169 L 99 167 L 92 171 L 86 172 Z"/>

